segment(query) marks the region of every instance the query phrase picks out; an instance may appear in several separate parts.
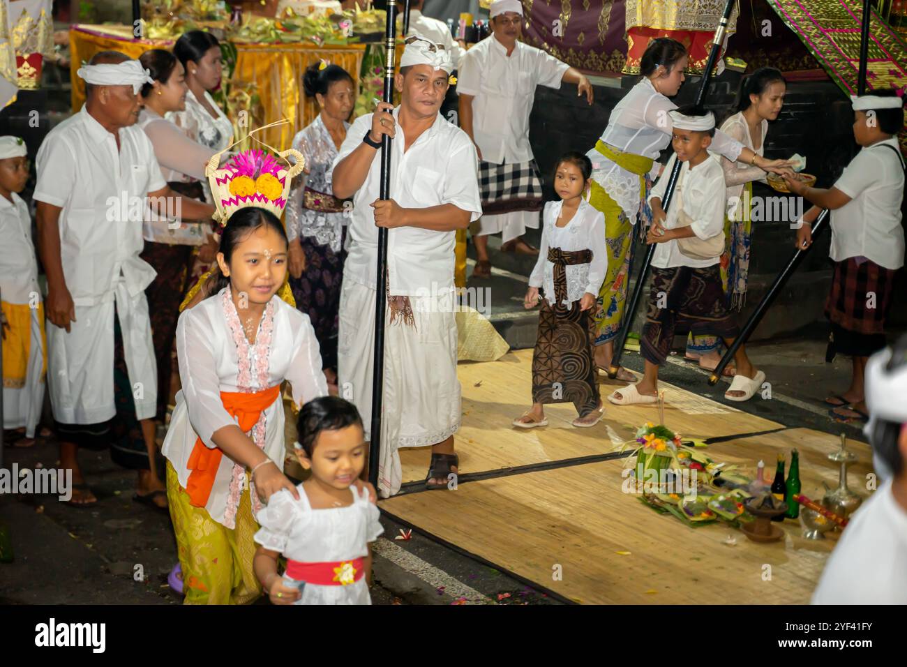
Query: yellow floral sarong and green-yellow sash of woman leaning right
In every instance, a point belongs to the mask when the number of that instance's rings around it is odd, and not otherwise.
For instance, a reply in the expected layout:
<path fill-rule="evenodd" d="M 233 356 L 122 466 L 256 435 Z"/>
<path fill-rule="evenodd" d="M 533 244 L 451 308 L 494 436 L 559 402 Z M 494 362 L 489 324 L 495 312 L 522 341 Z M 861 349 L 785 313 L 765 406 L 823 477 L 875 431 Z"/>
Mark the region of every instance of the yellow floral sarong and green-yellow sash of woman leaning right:
<path fill-rule="evenodd" d="M 655 163 L 651 158 L 620 152 L 599 140 L 595 150 L 619 167 L 639 175 L 639 199 L 646 197 L 646 174 Z M 591 182 L 589 203 L 605 214 L 605 240 L 608 246 L 608 273 L 599 290 L 595 310 L 595 344 L 607 343 L 618 335 L 623 320 L 629 283 L 629 249 L 633 244 L 633 221 L 596 181 Z"/>

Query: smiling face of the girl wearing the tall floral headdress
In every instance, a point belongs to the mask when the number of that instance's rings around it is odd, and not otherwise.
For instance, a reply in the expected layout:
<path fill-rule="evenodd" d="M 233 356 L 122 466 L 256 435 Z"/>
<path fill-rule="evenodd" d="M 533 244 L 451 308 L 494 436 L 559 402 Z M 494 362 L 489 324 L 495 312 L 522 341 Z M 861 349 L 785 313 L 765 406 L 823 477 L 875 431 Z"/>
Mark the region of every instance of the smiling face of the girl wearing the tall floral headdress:
<path fill-rule="evenodd" d="M 218 264 L 234 294 L 246 294 L 249 303 L 268 303 L 287 279 L 287 243 L 263 225 L 237 243 L 229 265 L 219 252 Z"/>

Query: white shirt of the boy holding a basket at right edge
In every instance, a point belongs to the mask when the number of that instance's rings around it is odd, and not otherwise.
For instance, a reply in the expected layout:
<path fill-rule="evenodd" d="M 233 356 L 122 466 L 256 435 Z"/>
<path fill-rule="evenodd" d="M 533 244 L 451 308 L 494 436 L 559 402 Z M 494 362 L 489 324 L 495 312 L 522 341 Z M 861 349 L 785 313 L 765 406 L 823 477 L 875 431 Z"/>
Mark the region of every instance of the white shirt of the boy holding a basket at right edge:
<path fill-rule="evenodd" d="M 864 146 L 835 181 L 851 201 L 832 211 L 832 260 L 865 257 L 885 269 L 904 265 L 900 152 L 895 137 Z"/>

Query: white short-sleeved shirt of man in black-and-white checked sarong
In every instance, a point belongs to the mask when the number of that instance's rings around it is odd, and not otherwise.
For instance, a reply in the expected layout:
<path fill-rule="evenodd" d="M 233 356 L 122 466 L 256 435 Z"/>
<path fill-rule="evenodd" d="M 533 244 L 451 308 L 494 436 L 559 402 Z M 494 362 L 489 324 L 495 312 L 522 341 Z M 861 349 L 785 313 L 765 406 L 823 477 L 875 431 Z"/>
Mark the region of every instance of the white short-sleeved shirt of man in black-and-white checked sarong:
<path fill-rule="evenodd" d="M 512 54 L 493 34 L 460 61 L 457 93 L 473 95 L 473 137 L 486 162 L 529 162 L 529 114 L 535 87 L 560 88 L 570 65 L 529 44 Z"/>

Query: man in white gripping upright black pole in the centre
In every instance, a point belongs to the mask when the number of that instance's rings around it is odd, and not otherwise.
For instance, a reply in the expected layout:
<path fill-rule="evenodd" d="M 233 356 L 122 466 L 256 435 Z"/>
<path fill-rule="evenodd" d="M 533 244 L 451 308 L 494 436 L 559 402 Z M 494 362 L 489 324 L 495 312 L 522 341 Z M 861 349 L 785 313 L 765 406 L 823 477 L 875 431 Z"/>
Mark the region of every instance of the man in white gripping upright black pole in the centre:
<path fill-rule="evenodd" d="M 394 495 L 402 483 L 397 448 L 432 445 L 425 485 L 447 488 L 458 459 L 460 382 L 453 299 L 454 231 L 482 211 L 473 143 L 438 113 L 450 54 L 410 37 L 400 61 L 393 113 L 381 103 L 346 132 L 334 162 L 334 196 L 353 197 L 349 252 L 340 295 L 337 375 L 342 396 L 356 404 L 369 436 L 375 297 L 388 299 L 385 387 L 378 488 Z M 390 197 L 380 201 L 382 134 L 394 137 Z M 375 295 L 378 227 L 388 228 L 387 294 Z"/>

